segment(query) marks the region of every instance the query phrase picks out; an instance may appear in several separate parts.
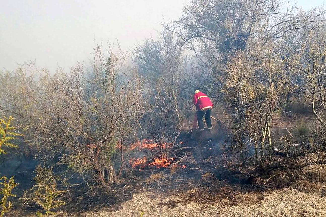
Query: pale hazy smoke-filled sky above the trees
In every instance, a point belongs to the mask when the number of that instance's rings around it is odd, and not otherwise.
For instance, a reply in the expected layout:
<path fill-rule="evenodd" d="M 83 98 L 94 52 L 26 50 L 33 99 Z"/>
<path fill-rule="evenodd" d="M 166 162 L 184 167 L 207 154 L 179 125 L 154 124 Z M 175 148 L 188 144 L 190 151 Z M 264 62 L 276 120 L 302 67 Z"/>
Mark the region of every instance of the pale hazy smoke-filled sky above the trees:
<path fill-rule="evenodd" d="M 36 60 L 50 71 L 88 61 L 96 42 L 128 49 L 177 19 L 190 0 L 0 0 L 0 70 Z M 324 0 L 297 0 L 304 8 Z"/>

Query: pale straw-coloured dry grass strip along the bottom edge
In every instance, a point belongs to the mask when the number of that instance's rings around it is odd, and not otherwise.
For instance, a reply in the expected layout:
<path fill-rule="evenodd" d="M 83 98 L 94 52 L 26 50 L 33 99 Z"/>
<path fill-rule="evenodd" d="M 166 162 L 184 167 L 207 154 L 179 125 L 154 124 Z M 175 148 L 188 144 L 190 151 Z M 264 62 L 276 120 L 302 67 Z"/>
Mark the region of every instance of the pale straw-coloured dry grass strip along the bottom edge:
<path fill-rule="evenodd" d="M 239 193 L 233 196 L 211 197 L 211 203 L 185 200 L 197 195 L 198 189 L 184 194 L 165 196 L 151 191 L 135 194 L 118 210 L 99 210 L 83 213 L 85 217 L 106 216 L 326 216 L 325 198 L 317 193 L 299 192 L 292 188 L 266 193 Z M 217 193 L 218 195 L 219 193 Z M 202 195 L 205 197 L 205 195 Z M 232 203 L 234 200 L 242 200 Z M 231 203 L 230 203 L 231 202 Z"/>

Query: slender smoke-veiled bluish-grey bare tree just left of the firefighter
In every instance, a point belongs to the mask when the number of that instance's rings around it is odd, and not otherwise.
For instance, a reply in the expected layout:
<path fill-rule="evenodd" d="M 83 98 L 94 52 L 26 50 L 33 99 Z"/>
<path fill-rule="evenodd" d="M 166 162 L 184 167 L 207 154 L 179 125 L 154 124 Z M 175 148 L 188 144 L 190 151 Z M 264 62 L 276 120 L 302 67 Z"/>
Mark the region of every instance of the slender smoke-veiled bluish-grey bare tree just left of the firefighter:
<path fill-rule="evenodd" d="M 145 100 L 152 110 L 143 121 L 162 157 L 167 157 L 163 144 L 176 142 L 184 119 L 181 109 L 185 103 L 180 97 L 184 70 L 180 40 L 173 32 L 163 30 L 157 40 L 148 39 L 134 50 L 140 74 L 151 89 Z"/>

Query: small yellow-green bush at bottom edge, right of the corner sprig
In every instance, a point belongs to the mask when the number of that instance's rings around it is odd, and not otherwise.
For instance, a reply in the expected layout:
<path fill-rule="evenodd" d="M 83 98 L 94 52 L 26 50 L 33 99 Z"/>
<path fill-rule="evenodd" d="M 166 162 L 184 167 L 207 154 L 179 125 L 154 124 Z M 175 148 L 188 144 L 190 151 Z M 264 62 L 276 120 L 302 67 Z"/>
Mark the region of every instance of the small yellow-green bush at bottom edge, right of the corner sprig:
<path fill-rule="evenodd" d="M 26 201 L 32 200 L 40 206 L 45 216 L 53 214 L 52 209 L 58 208 L 65 204 L 59 198 L 63 196 L 66 191 L 59 190 L 59 183 L 62 182 L 59 176 L 52 172 L 52 168 L 41 167 L 38 165 L 35 169 L 35 185 L 30 189 L 31 194 L 25 193 Z M 37 212 L 37 216 L 43 216 Z"/>

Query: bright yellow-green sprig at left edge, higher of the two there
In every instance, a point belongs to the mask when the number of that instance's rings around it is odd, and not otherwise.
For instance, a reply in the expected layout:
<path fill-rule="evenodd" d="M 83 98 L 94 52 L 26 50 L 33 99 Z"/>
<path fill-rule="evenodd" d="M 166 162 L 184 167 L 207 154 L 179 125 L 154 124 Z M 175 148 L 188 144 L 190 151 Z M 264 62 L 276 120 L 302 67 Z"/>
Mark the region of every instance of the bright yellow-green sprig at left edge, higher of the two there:
<path fill-rule="evenodd" d="M 12 132 L 16 129 L 15 127 L 10 127 L 10 122 L 12 119 L 12 116 L 9 116 L 9 118 L 4 117 L 3 119 L 0 119 L 0 154 L 6 154 L 5 150 L 2 148 L 3 145 L 11 148 L 16 148 L 17 146 L 10 143 L 9 141 L 14 139 L 14 136 L 22 135 Z"/>

